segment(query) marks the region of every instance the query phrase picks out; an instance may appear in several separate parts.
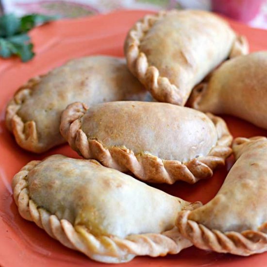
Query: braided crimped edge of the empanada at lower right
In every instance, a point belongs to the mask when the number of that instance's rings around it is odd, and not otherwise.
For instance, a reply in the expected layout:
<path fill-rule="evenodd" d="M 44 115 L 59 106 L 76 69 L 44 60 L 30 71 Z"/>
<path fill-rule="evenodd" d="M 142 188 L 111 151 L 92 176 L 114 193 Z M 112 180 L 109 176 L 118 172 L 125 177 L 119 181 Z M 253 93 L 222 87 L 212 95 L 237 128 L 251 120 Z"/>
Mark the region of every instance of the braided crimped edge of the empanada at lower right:
<path fill-rule="evenodd" d="M 238 137 L 234 140 L 233 148 L 261 139 L 266 139 L 266 137 L 252 137 L 250 139 Z M 200 249 L 241 256 L 249 256 L 267 251 L 267 222 L 260 225 L 256 231 L 245 230 L 223 233 L 188 219 L 189 215 L 190 211 L 181 211 L 178 214 L 176 225 L 180 233 Z"/>

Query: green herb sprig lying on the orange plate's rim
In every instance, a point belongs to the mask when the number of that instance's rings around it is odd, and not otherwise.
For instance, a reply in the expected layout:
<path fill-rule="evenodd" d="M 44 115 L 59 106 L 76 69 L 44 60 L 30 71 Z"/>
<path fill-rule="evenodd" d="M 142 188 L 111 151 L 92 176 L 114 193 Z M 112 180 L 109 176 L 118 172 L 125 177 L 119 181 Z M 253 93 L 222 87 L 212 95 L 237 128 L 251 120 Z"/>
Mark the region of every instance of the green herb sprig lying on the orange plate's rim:
<path fill-rule="evenodd" d="M 12 55 L 17 55 L 22 62 L 31 60 L 34 56 L 34 52 L 28 32 L 38 25 L 57 18 L 57 16 L 40 14 L 30 14 L 23 17 L 16 17 L 14 14 L 1 16 L 0 56 L 9 58 Z"/>

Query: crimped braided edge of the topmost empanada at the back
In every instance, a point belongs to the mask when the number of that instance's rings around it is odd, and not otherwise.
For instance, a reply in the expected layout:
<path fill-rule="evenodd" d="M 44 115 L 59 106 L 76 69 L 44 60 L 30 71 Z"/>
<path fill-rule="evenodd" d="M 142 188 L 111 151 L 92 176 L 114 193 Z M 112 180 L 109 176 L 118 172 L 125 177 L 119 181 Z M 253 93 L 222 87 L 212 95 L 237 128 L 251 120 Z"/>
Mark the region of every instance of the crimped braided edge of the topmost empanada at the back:
<path fill-rule="evenodd" d="M 171 83 L 167 77 L 162 77 L 157 67 L 150 66 L 146 54 L 139 49 L 144 35 L 155 22 L 162 19 L 169 12 L 177 13 L 179 11 L 161 11 L 154 15 L 147 15 L 136 22 L 125 39 L 124 54 L 128 68 L 146 86 L 156 100 L 184 105 L 186 100 L 184 100 L 181 89 Z M 236 35 L 229 57 L 233 58 L 242 54 L 248 54 L 248 52 L 249 44 L 246 37 Z"/>

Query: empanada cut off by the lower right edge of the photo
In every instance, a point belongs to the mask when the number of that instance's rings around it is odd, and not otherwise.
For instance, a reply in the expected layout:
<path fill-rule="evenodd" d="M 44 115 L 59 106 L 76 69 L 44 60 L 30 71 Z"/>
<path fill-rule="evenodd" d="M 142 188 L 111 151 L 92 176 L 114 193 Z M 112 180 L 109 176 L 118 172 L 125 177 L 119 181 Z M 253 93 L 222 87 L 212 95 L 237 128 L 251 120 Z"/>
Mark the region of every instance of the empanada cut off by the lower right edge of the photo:
<path fill-rule="evenodd" d="M 204 250 L 247 256 L 267 251 L 267 138 L 236 138 L 237 159 L 216 197 L 181 212 L 177 226 Z"/>

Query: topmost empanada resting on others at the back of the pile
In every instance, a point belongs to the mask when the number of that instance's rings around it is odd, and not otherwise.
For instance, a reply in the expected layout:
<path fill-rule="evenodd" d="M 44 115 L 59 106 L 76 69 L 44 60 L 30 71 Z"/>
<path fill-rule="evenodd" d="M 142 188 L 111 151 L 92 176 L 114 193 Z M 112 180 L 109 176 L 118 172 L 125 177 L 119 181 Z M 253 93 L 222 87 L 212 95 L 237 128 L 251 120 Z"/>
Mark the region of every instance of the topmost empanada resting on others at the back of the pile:
<path fill-rule="evenodd" d="M 132 73 L 161 102 L 184 105 L 193 87 L 228 57 L 248 52 L 244 37 L 206 11 L 145 16 L 125 40 Z"/>

